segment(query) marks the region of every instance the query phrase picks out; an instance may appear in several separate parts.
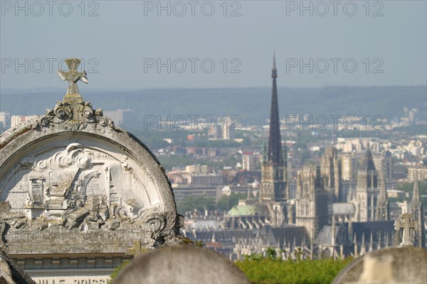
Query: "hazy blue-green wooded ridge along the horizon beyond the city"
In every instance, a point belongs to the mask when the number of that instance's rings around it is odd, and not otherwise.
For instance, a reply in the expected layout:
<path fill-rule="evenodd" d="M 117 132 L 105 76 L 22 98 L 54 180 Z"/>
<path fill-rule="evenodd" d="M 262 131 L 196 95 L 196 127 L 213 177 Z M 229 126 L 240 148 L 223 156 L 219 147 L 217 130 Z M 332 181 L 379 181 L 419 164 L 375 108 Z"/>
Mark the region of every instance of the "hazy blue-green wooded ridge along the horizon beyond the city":
<path fill-rule="evenodd" d="M 64 90 L 65 91 L 65 90 Z M 105 111 L 130 109 L 139 123 L 144 115 L 211 115 L 241 117 L 243 126 L 265 124 L 270 114 L 271 89 L 142 89 L 126 92 L 83 92 L 94 108 Z M 44 114 L 62 100 L 61 92 L 1 92 L 0 110 L 11 114 Z M 403 107 L 418 108 L 426 116 L 427 88 L 413 87 L 325 87 L 278 88 L 280 118 L 287 114 L 381 115 L 394 119 Z"/>

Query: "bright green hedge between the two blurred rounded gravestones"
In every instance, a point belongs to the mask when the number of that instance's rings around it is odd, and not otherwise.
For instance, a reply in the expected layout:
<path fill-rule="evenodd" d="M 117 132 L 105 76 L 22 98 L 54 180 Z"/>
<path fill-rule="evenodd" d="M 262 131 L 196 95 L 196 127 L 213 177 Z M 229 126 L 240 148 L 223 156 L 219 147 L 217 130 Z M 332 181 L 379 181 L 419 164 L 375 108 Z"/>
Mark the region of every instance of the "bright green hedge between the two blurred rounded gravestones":
<path fill-rule="evenodd" d="M 237 261 L 252 283 L 331 283 L 351 258 L 310 261 L 281 261 L 277 258 Z"/>

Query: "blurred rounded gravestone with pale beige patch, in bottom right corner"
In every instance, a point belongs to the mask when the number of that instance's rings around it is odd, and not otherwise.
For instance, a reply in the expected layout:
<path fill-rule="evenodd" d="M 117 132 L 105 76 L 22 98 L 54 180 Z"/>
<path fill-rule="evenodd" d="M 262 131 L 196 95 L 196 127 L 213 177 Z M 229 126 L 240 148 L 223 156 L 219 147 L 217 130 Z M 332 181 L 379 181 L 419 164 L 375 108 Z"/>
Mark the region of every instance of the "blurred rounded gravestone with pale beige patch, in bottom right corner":
<path fill-rule="evenodd" d="M 378 249 L 355 259 L 333 283 L 427 283 L 426 263 L 426 249 Z"/>

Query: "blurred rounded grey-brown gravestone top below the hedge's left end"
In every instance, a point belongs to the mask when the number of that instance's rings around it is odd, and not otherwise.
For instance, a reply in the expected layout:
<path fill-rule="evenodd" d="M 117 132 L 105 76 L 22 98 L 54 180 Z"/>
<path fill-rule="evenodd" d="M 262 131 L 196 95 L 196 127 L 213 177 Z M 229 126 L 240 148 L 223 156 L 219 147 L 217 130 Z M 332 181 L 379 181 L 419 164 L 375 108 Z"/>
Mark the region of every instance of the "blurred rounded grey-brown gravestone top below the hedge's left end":
<path fill-rule="evenodd" d="M 135 258 L 113 283 L 250 283 L 215 251 L 189 245 L 164 246 Z"/>

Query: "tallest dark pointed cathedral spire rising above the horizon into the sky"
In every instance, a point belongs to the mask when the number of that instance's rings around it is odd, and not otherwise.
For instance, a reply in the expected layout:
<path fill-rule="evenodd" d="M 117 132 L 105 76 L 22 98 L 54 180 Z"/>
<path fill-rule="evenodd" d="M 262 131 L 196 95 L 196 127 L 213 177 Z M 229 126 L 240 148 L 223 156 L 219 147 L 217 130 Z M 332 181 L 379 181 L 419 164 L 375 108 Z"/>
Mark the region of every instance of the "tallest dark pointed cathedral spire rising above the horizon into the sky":
<path fill-rule="evenodd" d="M 273 91 L 271 92 L 271 110 L 270 110 L 270 138 L 268 139 L 267 163 L 283 164 L 282 144 L 280 140 L 280 122 L 278 105 L 278 87 L 276 78 L 278 70 L 275 67 L 275 55 L 273 55 Z"/>

